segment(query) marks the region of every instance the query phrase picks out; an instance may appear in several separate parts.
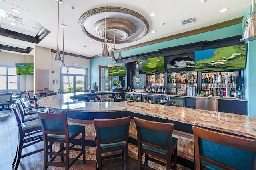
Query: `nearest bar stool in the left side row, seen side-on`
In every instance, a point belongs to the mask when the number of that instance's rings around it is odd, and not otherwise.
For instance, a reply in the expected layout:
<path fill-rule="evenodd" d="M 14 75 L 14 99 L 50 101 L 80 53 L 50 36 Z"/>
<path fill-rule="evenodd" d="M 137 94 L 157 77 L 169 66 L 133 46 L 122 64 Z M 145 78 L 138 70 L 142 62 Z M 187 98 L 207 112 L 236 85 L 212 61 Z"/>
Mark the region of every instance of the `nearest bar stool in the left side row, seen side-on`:
<path fill-rule="evenodd" d="M 31 150 L 31 149 L 24 149 L 26 147 L 29 147 L 31 145 L 34 145 L 38 142 L 43 141 L 43 136 L 42 136 L 41 123 L 39 119 L 22 123 L 21 116 L 20 116 L 21 113 L 17 109 L 16 104 L 12 104 L 10 108 L 15 115 L 17 126 L 18 126 L 18 133 L 19 133 L 17 150 L 12 163 L 12 166 L 16 164 L 14 167 L 14 170 L 17 170 L 21 158 L 30 156 L 32 154 L 35 154 L 37 152 L 41 152 L 44 150 L 42 148 L 42 149 L 33 150 L 31 152 L 27 152 L 28 150 Z M 22 153 L 22 149 L 25 150 L 26 152 L 25 154 Z"/>

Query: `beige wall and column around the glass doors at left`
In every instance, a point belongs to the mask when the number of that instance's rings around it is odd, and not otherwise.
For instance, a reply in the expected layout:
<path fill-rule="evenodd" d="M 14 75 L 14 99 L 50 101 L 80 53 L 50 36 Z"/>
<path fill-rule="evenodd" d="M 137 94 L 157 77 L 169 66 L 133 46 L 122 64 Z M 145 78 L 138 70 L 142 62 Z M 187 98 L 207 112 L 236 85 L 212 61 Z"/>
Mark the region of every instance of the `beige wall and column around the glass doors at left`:
<path fill-rule="evenodd" d="M 53 61 L 54 53 L 51 49 L 35 46 L 34 56 L 8 53 L 2 51 L 0 53 L 0 65 L 15 66 L 15 63 L 33 63 L 34 61 L 34 76 L 20 76 L 20 90 L 29 90 L 36 92 L 37 80 L 43 77 L 37 77 L 37 70 L 49 70 L 49 88 L 50 90 L 58 91 L 60 88 L 60 61 Z M 62 57 L 62 55 L 61 55 Z M 66 66 L 77 68 L 88 68 L 88 85 L 90 84 L 90 59 L 83 59 L 70 55 L 64 55 Z M 73 63 L 78 63 L 75 66 Z M 54 73 L 52 73 L 54 71 Z M 35 81 L 34 81 L 35 80 Z M 53 80 L 57 80 L 58 84 L 53 84 Z M 88 88 L 88 87 L 87 87 Z"/>

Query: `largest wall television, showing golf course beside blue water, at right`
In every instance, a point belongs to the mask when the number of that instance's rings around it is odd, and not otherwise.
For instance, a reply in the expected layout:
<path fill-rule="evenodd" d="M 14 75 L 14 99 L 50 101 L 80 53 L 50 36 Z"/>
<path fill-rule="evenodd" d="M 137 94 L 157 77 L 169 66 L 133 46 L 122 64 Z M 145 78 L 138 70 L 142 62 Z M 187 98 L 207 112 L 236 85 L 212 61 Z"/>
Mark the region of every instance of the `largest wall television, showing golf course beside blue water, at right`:
<path fill-rule="evenodd" d="M 246 68 L 247 44 L 195 51 L 195 71 Z"/>

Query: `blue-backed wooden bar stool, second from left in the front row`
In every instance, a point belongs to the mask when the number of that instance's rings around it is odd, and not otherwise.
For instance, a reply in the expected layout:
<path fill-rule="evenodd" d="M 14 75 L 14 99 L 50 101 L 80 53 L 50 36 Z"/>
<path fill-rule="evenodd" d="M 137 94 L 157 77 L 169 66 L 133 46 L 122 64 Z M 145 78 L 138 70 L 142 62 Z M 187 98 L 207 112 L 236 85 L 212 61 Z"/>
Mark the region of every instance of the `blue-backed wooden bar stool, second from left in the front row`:
<path fill-rule="evenodd" d="M 98 170 L 120 164 L 126 169 L 130 120 L 130 116 L 117 119 L 94 119 L 93 123 L 96 130 L 96 168 Z M 120 157 L 122 157 L 121 161 L 103 161 Z"/>

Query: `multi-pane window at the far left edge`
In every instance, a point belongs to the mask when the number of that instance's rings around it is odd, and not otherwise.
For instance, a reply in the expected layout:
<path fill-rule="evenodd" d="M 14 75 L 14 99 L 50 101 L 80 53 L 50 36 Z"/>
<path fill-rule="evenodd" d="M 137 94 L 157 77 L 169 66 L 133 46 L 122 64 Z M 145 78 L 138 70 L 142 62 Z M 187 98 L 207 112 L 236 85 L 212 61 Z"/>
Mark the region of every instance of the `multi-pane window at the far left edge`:
<path fill-rule="evenodd" d="M 0 90 L 18 90 L 19 80 L 15 66 L 0 66 Z"/>

